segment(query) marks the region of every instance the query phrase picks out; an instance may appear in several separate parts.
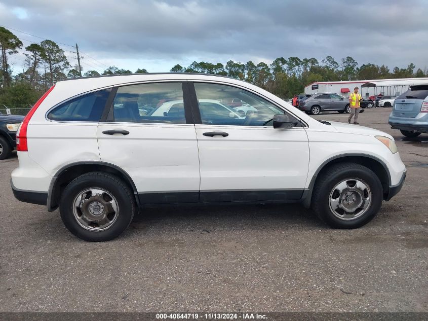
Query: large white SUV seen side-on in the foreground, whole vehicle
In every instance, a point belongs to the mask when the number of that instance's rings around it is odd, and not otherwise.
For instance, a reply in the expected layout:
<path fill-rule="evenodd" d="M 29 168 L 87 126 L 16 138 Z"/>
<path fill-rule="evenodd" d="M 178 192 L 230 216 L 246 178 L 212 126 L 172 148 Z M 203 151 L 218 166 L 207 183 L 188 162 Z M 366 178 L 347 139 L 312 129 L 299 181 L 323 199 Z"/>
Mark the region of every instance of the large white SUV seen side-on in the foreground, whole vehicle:
<path fill-rule="evenodd" d="M 253 110 L 243 117 L 220 103 L 234 98 Z M 59 207 L 70 232 L 90 241 L 118 236 L 153 204 L 302 202 L 332 227 L 357 228 L 406 176 L 392 136 L 317 121 L 221 76 L 61 81 L 17 137 L 15 197 Z"/>

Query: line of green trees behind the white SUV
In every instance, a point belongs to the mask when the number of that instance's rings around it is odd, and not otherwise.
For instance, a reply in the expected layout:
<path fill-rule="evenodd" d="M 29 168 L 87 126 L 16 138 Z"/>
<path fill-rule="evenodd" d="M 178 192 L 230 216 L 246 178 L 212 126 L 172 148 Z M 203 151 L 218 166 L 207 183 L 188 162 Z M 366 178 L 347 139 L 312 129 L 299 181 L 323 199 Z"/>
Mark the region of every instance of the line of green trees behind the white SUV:
<path fill-rule="evenodd" d="M 26 46 L 21 73 L 14 73 L 9 58 L 23 49 L 22 41 L 10 30 L 0 27 L 0 49 L 2 69 L 0 72 L 0 108 L 7 106 L 28 106 L 33 104 L 48 88 L 57 81 L 81 76 L 81 72 L 71 67 L 65 52 L 51 40 L 32 43 Z M 221 62 L 193 61 L 189 66 L 173 66 L 171 73 L 203 73 L 228 76 L 262 87 L 279 97 L 289 98 L 303 92 L 304 86 L 318 81 L 351 81 L 368 79 L 428 77 L 428 70 L 409 63 L 407 68 L 359 63 L 352 57 L 336 61 L 332 56 L 318 59 L 279 57 L 269 65 L 265 62 L 255 64 L 229 60 Z M 135 73 L 147 73 L 139 68 Z M 101 75 L 132 74 L 131 70 L 109 66 Z M 99 76 L 96 70 L 88 70 L 82 76 Z"/>

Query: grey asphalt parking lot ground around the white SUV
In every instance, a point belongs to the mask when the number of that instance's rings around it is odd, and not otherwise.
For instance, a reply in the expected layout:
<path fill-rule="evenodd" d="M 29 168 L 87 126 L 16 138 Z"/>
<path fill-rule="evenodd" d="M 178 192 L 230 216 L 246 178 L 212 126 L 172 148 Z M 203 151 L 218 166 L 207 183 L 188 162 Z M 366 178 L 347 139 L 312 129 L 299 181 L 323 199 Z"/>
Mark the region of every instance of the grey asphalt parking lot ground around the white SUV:
<path fill-rule="evenodd" d="M 160 207 L 89 243 L 17 201 L 16 154 L 0 161 L 0 311 L 428 311 L 428 134 L 403 139 L 390 112 L 359 122 L 395 137 L 407 179 L 356 230 L 297 204 Z"/>

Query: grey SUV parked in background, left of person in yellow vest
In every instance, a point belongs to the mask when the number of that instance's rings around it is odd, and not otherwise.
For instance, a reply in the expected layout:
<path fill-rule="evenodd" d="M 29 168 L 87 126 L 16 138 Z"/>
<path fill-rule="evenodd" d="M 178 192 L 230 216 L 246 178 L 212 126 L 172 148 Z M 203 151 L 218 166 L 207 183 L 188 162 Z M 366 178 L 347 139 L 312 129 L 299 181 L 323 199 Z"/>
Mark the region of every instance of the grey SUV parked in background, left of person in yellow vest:
<path fill-rule="evenodd" d="M 298 109 L 311 115 L 321 112 L 337 111 L 339 113 L 351 113 L 349 99 L 334 93 L 318 93 L 300 101 Z"/>

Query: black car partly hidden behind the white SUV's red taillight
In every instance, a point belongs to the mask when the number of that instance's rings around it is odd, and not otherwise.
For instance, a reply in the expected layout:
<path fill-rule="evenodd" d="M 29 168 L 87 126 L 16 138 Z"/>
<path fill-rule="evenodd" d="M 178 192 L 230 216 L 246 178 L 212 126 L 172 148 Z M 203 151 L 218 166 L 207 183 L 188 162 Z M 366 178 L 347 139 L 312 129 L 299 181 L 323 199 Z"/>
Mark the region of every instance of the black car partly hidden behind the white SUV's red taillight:
<path fill-rule="evenodd" d="M 8 158 L 16 148 L 16 130 L 24 116 L 0 113 L 0 160 Z"/>

